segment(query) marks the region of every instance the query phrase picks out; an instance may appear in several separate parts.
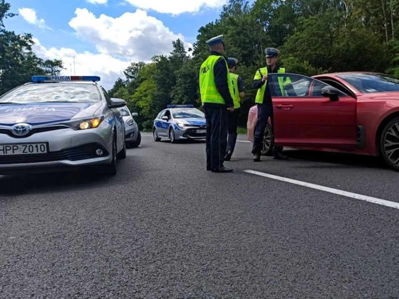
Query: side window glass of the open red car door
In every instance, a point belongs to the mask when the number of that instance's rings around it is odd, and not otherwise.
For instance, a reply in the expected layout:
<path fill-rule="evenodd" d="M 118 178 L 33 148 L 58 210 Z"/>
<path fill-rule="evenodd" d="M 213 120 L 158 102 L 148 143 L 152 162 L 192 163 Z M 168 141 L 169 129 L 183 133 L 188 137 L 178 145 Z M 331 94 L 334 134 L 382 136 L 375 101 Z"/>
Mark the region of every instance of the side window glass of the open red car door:
<path fill-rule="evenodd" d="M 295 74 L 269 74 L 272 97 L 322 97 L 322 89 L 329 86 L 318 80 Z M 340 92 L 340 96 L 345 94 Z"/>

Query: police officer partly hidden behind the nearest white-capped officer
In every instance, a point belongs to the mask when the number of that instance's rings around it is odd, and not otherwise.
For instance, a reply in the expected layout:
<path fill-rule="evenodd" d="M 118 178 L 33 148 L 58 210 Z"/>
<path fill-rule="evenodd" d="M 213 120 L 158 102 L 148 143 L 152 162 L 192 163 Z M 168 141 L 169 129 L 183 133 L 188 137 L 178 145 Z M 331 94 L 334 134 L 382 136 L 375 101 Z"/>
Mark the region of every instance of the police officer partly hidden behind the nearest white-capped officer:
<path fill-rule="evenodd" d="M 229 57 L 227 58 L 227 65 L 230 71 L 230 80 L 233 84 L 233 100 L 234 100 L 234 111 L 227 113 L 227 149 L 226 155 L 224 156 L 225 161 L 230 161 L 231 155 L 233 154 L 235 142 L 237 140 L 237 126 L 238 116 L 240 114 L 240 101 L 245 96 L 244 80 L 237 74 L 235 70 L 237 68 L 238 59 Z"/>

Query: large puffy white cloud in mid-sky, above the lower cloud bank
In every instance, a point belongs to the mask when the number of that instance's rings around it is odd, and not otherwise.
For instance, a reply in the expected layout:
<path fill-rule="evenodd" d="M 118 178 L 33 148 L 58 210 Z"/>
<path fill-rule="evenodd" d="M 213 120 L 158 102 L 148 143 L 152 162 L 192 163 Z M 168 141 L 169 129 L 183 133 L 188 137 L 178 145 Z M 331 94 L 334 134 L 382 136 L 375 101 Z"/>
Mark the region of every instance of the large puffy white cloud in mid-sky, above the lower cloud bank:
<path fill-rule="evenodd" d="M 140 9 L 116 18 L 105 14 L 96 17 L 86 8 L 77 8 L 75 14 L 69 25 L 104 54 L 148 61 L 154 55 L 169 54 L 173 40 L 184 41 L 182 34 L 173 33 L 162 21 Z"/>

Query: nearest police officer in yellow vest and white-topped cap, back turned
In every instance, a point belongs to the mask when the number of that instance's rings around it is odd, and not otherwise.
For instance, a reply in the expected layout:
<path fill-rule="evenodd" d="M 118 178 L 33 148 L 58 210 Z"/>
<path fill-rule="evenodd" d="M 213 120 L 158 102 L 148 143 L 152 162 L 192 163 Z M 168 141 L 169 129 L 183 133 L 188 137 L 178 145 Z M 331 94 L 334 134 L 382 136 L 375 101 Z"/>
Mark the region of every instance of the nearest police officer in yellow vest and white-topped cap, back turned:
<path fill-rule="evenodd" d="M 223 158 L 227 140 L 227 112 L 234 111 L 231 95 L 233 86 L 229 79 L 224 52 L 223 35 L 206 41 L 210 55 L 201 64 L 200 94 L 206 120 L 206 170 L 231 172 L 224 167 Z"/>

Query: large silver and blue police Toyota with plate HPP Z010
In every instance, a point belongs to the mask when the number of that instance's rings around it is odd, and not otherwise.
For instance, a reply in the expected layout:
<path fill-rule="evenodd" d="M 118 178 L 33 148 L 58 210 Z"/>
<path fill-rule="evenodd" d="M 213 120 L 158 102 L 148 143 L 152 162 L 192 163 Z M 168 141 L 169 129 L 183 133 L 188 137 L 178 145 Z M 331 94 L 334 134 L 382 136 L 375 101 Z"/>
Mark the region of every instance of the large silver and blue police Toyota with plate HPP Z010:
<path fill-rule="evenodd" d="M 78 82 L 83 81 L 83 82 Z M 0 174 L 100 166 L 126 157 L 125 126 L 97 76 L 33 76 L 0 96 Z"/>

